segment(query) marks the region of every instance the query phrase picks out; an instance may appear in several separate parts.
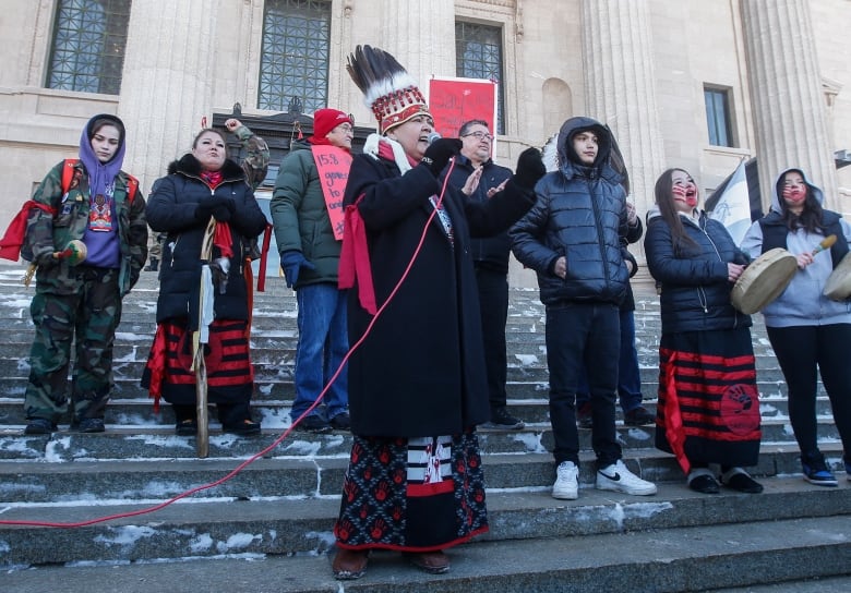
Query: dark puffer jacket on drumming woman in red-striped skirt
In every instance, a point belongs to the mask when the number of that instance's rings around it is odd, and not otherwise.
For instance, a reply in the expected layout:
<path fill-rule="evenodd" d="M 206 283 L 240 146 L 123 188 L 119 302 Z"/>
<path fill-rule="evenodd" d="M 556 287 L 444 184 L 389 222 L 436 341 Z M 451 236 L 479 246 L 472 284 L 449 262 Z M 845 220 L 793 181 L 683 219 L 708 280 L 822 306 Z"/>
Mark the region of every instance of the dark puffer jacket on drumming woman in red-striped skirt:
<path fill-rule="evenodd" d="M 650 275 L 661 282 L 662 334 L 751 327 L 751 316 L 730 302 L 733 285 L 728 263 L 748 258 L 723 225 L 700 214 L 698 221 L 681 215 L 694 244 L 674 246 L 671 228 L 661 216 L 650 218 L 644 250 Z"/>

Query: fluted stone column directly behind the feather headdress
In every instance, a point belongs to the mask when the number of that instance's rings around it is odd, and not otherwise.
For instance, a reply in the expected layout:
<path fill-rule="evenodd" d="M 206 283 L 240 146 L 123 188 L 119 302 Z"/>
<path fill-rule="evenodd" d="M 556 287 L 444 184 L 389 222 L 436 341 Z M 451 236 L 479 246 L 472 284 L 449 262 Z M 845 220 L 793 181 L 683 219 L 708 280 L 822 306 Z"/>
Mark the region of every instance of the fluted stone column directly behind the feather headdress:
<path fill-rule="evenodd" d="M 428 96 L 432 76 L 455 76 L 455 1 L 381 0 L 381 44 Z"/>

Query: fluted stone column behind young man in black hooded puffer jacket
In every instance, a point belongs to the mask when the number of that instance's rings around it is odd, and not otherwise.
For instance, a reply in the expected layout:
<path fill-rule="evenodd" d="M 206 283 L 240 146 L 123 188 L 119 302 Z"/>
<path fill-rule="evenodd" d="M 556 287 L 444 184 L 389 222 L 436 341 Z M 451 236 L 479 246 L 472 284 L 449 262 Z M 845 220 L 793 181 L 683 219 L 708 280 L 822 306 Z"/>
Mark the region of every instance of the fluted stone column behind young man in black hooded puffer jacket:
<path fill-rule="evenodd" d="M 666 169 L 647 0 L 582 0 L 587 114 L 612 129 L 639 216 Z M 640 251 L 633 247 L 636 253 Z"/>

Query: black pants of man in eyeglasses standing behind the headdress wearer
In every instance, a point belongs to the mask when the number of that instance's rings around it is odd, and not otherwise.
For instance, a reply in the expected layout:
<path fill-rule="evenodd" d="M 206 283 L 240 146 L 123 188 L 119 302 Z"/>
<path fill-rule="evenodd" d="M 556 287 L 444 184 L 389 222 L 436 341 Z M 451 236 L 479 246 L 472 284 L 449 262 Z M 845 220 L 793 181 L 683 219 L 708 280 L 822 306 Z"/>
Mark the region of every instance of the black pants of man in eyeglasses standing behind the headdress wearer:
<path fill-rule="evenodd" d="M 508 361 L 505 354 L 505 322 L 508 318 L 508 277 L 504 273 L 476 266 L 476 285 L 481 310 L 488 400 L 493 410 L 504 408 L 506 401 Z"/>

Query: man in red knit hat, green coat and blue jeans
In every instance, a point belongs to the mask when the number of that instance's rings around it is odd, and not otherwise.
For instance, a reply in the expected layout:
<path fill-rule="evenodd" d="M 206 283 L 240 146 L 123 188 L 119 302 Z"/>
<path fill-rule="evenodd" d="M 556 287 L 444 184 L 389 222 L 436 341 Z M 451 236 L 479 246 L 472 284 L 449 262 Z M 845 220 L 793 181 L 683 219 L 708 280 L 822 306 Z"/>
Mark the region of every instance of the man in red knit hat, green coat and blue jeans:
<path fill-rule="evenodd" d="M 316 401 L 349 350 L 346 291 L 337 288 L 343 242 L 334 235 L 316 155 L 336 159 L 335 150 L 323 148 L 327 146 L 349 153 L 352 125 L 351 117 L 343 111 L 316 111 L 313 135 L 293 142 L 281 161 L 269 203 L 280 267 L 298 303 L 293 422 Z M 297 429 L 327 433 L 350 428 L 345 370 L 328 388 L 323 404 L 304 416 Z"/>

